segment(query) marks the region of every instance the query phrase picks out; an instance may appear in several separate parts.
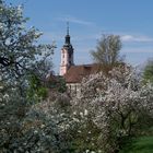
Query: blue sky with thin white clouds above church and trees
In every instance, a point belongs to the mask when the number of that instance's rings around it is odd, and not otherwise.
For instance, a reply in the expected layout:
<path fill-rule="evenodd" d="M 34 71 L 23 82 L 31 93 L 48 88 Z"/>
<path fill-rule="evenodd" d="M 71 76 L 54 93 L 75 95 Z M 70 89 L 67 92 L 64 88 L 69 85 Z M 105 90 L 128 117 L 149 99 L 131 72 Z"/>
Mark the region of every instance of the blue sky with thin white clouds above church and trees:
<path fill-rule="evenodd" d="M 103 34 L 120 35 L 120 55 L 126 62 L 140 66 L 153 57 L 153 0 L 5 0 L 24 4 L 28 25 L 44 35 L 40 42 L 57 48 L 52 57 L 58 73 L 60 49 L 64 44 L 67 22 L 75 64 L 92 63 L 90 55 Z"/>

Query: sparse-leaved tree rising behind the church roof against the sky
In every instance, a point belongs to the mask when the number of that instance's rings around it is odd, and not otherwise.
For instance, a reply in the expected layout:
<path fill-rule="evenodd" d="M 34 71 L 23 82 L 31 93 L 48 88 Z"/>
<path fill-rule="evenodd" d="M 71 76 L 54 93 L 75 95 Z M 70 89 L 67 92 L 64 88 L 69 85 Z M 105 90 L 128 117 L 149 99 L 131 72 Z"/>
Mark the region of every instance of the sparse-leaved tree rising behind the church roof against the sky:
<path fill-rule="evenodd" d="M 91 55 L 95 62 L 101 63 L 103 71 L 109 71 L 122 61 L 119 56 L 121 42 L 118 35 L 103 35 L 97 42 L 96 50 Z"/>

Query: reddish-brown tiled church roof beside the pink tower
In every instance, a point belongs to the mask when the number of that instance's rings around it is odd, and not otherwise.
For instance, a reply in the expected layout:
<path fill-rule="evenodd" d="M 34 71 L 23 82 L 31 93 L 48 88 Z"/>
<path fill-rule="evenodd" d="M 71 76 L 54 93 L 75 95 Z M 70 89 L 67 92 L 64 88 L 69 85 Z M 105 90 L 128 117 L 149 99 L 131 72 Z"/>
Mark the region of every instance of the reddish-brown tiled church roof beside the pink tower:
<path fill-rule="evenodd" d="M 97 73 L 98 71 L 99 64 L 96 63 L 71 66 L 63 78 L 66 79 L 67 83 L 81 83 L 84 76 Z"/>

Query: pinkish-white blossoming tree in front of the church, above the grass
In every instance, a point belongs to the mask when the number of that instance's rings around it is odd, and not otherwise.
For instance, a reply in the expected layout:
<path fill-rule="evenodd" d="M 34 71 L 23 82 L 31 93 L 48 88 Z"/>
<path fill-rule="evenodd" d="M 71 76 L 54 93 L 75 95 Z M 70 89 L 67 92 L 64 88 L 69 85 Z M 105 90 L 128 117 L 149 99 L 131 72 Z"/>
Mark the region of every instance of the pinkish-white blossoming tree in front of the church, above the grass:
<path fill-rule="evenodd" d="M 81 95 L 72 104 L 84 115 L 82 119 L 91 118 L 98 129 L 95 151 L 116 152 L 125 137 L 142 134 L 153 126 L 153 86 L 142 85 L 134 70 L 125 67 L 123 72 L 115 68 L 109 75 L 93 74 L 81 86 Z"/>

